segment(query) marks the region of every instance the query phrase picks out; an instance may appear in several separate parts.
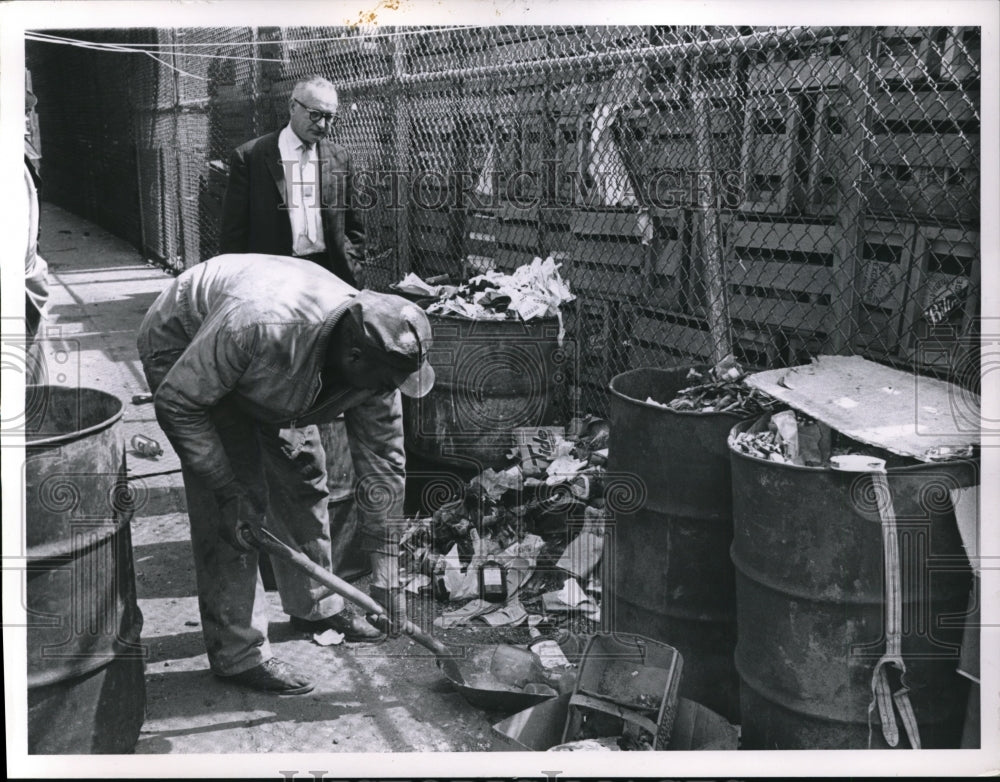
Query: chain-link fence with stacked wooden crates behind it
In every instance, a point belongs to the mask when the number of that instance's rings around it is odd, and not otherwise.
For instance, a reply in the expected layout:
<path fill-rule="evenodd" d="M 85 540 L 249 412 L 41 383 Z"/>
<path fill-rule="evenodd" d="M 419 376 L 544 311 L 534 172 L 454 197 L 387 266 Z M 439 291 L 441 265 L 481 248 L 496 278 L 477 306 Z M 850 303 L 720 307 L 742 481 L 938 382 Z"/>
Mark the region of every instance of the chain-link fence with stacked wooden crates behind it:
<path fill-rule="evenodd" d="M 581 409 L 626 369 L 729 352 L 978 384 L 979 28 L 61 34 L 157 54 L 33 40 L 28 64 L 50 197 L 168 267 L 215 253 L 229 153 L 318 73 L 369 286 L 552 256 Z"/>

